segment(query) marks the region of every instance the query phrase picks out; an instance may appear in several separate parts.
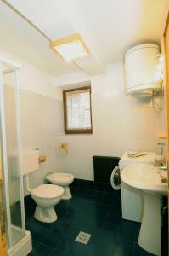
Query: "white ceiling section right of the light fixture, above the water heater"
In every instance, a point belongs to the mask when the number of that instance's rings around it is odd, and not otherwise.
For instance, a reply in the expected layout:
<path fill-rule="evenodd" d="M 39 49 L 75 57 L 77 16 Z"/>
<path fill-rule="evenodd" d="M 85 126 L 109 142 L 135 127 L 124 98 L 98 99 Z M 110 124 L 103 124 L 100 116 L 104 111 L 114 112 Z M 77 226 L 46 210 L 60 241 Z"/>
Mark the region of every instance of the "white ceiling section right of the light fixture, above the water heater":
<path fill-rule="evenodd" d="M 105 65 L 121 61 L 124 52 L 135 44 L 161 40 L 167 0 L 55 2 Z"/>

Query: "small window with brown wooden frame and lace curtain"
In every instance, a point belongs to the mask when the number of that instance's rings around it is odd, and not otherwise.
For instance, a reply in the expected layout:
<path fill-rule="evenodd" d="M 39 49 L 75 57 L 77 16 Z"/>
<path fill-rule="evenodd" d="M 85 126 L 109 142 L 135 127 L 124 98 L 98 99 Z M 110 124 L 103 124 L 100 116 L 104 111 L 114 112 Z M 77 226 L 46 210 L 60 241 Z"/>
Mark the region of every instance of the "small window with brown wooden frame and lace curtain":
<path fill-rule="evenodd" d="M 63 91 L 65 134 L 92 133 L 91 87 Z"/>

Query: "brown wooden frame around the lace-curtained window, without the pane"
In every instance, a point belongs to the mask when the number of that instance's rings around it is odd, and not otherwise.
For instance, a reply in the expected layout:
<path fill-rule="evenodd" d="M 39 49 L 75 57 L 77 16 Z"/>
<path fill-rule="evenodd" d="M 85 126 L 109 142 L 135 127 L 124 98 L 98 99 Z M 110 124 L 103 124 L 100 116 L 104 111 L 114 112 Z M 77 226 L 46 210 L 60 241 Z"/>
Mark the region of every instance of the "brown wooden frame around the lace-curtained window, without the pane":
<path fill-rule="evenodd" d="M 89 90 L 90 91 L 90 119 L 91 128 L 90 129 L 67 129 L 67 104 L 66 104 L 66 93 L 77 90 Z M 63 90 L 63 104 L 64 104 L 64 125 L 65 134 L 92 134 L 93 133 L 93 123 L 92 123 L 92 102 L 91 102 L 91 86 L 83 86 L 79 88 L 73 88 L 70 90 Z"/>

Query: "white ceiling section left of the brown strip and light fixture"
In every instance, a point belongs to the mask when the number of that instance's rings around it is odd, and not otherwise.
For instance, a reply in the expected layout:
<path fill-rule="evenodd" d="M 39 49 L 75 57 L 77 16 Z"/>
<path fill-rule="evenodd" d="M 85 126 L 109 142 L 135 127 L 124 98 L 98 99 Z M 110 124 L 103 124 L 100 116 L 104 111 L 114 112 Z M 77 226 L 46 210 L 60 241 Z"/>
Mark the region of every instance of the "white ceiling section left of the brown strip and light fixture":
<path fill-rule="evenodd" d="M 1 1 L 0 49 L 53 76 L 79 70 L 54 54 L 48 39 Z"/>

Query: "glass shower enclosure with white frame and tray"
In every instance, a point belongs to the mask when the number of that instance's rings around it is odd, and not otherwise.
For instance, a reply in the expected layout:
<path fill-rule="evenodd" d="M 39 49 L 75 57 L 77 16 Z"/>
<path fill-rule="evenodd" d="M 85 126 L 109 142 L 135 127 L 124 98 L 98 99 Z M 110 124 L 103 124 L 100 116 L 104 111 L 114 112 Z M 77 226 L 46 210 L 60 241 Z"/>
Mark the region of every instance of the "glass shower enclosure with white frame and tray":
<path fill-rule="evenodd" d="M 21 172 L 19 70 L 19 64 L 0 56 L 0 255 L 4 256 L 31 251 Z"/>

